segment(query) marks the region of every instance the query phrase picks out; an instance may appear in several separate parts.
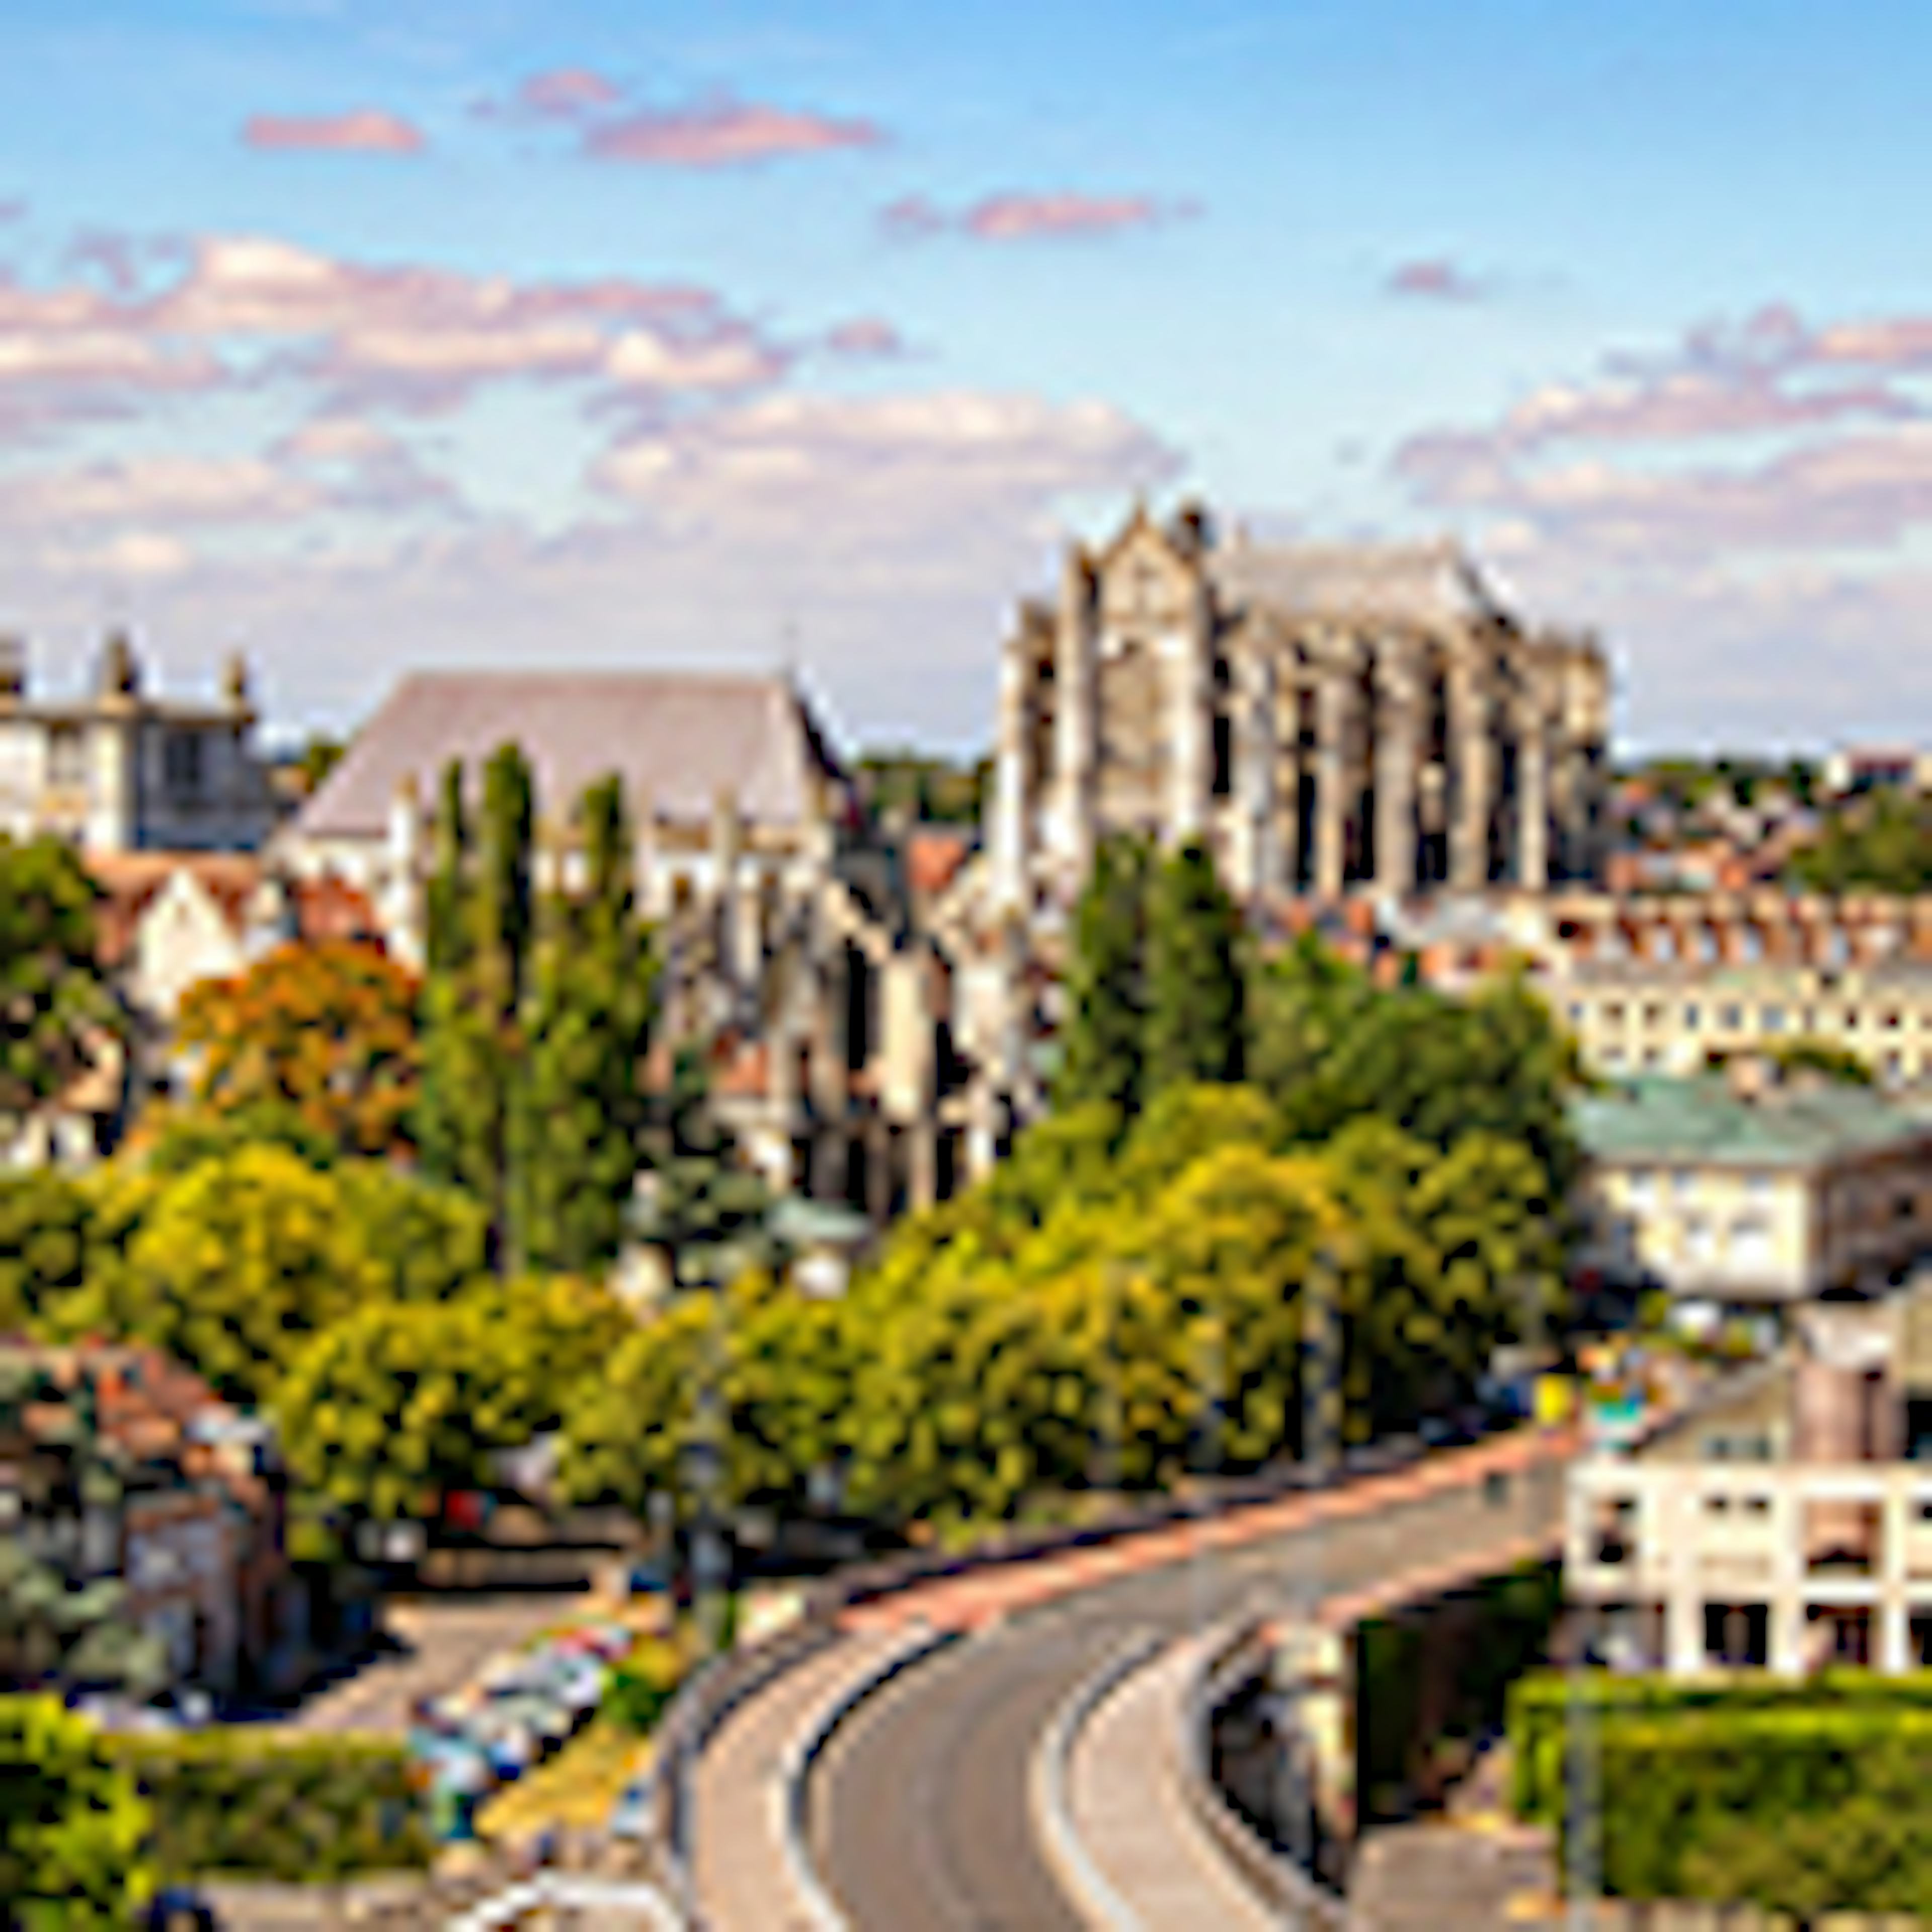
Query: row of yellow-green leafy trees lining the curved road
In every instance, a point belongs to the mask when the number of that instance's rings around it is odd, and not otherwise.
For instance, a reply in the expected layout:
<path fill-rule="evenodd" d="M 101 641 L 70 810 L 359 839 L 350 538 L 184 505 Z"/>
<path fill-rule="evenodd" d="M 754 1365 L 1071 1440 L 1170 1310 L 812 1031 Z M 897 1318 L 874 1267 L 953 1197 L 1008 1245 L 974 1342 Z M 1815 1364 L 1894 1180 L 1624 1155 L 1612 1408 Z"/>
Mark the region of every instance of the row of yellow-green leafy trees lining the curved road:
<path fill-rule="evenodd" d="M 1294 1453 L 1310 1293 L 1339 1325 L 1350 1439 L 1466 1399 L 1497 1341 L 1561 1312 L 1548 1179 L 1480 1128 L 1439 1150 L 1362 1121 L 1298 1148 L 1258 1090 L 1194 1086 L 1119 1148 L 1117 1130 L 1105 1105 L 1032 1128 L 898 1223 L 840 1302 L 757 1273 L 674 1298 L 583 1385 L 566 1484 L 630 1507 L 682 1493 L 709 1374 L 738 1499 L 837 1466 L 885 1520 L 1005 1517 Z"/>

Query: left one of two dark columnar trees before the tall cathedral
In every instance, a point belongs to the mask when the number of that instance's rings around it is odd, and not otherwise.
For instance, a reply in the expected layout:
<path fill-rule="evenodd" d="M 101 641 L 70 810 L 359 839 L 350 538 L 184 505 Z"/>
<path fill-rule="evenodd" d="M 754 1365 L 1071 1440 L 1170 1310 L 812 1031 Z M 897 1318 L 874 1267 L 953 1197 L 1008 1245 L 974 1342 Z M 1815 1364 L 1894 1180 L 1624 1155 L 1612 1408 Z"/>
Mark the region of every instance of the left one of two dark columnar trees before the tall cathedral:
<path fill-rule="evenodd" d="M 1065 1051 L 1055 1105 L 1105 1101 L 1122 1121 L 1140 1109 L 1146 1053 L 1146 895 L 1142 838 L 1105 838 L 1074 910 L 1066 960 Z"/>

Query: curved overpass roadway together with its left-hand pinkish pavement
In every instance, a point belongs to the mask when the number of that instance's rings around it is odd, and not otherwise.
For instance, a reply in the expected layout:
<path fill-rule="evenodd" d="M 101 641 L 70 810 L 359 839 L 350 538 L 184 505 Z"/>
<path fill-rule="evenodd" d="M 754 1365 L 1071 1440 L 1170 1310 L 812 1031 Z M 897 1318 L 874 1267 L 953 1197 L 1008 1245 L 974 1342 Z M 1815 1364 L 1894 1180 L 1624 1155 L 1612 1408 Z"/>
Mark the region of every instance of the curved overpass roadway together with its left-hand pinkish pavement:
<path fill-rule="evenodd" d="M 1036 1766 L 1109 1658 L 1289 1600 L 1372 1615 L 1546 1553 L 1569 1453 L 1522 1432 L 844 1605 L 697 1760 L 707 1932 L 1080 1932 L 1094 1913 L 1041 1841 Z"/>

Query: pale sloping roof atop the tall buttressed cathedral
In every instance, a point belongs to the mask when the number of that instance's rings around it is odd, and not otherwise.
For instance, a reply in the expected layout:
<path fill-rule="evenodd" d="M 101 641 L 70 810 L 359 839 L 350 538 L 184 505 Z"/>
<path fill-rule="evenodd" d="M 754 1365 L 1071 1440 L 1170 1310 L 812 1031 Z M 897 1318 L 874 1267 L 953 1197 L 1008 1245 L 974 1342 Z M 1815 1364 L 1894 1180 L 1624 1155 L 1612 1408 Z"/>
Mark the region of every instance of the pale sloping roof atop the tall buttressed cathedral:
<path fill-rule="evenodd" d="M 1227 605 L 1289 618 L 1383 618 L 1437 626 L 1501 614 L 1474 562 L 1453 543 L 1254 543 L 1206 553 Z"/>

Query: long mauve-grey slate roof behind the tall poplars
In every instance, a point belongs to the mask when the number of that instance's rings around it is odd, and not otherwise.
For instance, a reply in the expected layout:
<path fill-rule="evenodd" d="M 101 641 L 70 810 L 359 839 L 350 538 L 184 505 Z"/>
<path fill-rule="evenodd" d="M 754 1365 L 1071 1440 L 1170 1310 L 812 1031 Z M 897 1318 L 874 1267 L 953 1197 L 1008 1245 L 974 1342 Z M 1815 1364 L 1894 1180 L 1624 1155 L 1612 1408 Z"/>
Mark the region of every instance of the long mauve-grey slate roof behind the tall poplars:
<path fill-rule="evenodd" d="M 748 823 L 796 825 L 815 773 L 837 775 L 784 678 L 663 670 L 421 670 L 404 678 L 303 806 L 299 838 L 375 838 L 396 786 L 427 802 L 442 767 L 471 769 L 502 744 L 531 761 L 537 810 L 562 817 L 612 771 L 632 810 L 703 821 L 721 790 Z"/>

